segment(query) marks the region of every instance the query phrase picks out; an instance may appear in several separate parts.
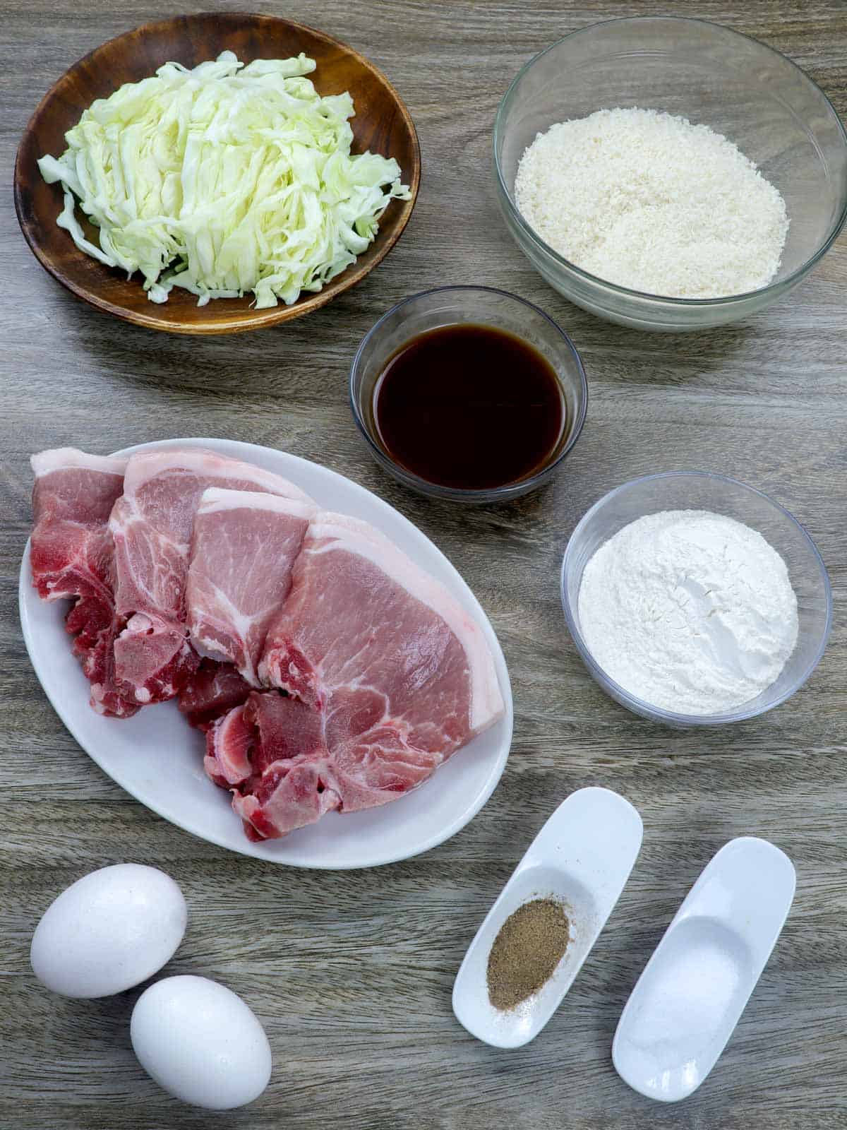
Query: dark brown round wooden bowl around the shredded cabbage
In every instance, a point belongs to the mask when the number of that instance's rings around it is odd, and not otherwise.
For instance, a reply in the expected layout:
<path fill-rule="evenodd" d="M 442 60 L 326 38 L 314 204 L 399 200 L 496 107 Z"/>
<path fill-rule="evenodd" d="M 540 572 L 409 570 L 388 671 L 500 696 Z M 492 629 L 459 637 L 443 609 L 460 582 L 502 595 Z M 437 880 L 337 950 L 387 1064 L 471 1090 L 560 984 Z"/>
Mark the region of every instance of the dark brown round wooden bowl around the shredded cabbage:
<path fill-rule="evenodd" d="M 251 297 L 217 298 L 198 306 L 197 298 L 175 287 L 166 303 L 148 299 L 141 276 L 131 279 L 79 251 L 68 232 L 56 227 L 62 208 L 60 184 L 46 184 L 36 160 L 44 154 L 59 157 L 67 148 L 66 132 L 79 121 L 95 98 L 108 97 L 123 82 L 152 75 L 168 61 L 195 67 L 221 51 L 238 59 L 287 59 L 304 51 L 317 70 L 309 76 L 322 95 L 349 90 L 356 116 L 351 121 L 353 153 L 370 149 L 395 157 L 411 200 L 393 200 L 379 233 L 358 260 L 317 294 L 304 294 L 291 306 L 253 310 Z M 255 330 L 323 306 L 348 290 L 387 255 L 409 223 L 420 183 L 420 149 L 414 125 L 400 95 L 385 76 L 351 47 L 302 24 L 276 16 L 246 12 L 204 12 L 181 16 L 119 35 L 80 59 L 44 95 L 27 124 L 15 164 L 15 208 L 20 227 L 36 258 L 73 294 L 128 322 L 173 333 L 235 333 Z M 78 209 L 77 215 L 82 218 Z M 96 228 L 84 223 L 89 240 Z"/>

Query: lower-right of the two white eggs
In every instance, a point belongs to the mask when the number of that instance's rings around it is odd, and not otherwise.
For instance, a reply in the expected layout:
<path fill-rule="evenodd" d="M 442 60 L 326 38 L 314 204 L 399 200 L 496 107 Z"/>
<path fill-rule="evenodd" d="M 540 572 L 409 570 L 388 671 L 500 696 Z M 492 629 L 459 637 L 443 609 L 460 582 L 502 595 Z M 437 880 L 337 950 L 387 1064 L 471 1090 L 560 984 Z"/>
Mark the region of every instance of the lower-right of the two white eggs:
<path fill-rule="evenodd" d="M 264 1028 L 241 997 L 207 977 L 165 977 L 139 997 L 130 1025 L 141 1067 L 176 1098 L 228 1111 L 271 1077 Z"/>

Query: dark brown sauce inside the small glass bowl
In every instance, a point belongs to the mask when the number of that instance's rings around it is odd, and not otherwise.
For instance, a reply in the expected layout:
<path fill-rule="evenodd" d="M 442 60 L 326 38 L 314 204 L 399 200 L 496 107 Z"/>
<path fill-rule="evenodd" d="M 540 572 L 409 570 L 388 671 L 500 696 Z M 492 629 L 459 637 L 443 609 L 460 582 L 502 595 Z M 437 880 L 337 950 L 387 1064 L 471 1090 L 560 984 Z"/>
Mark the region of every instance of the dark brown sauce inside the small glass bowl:
<path fill-rule="evenodd" d="M 445 325 L 388 359 L 374 424 L 401 467 L 479 490 L 542 470 L 560 446 L 566 408 L 552 365 L 529 342 L 489 325 Z"/>

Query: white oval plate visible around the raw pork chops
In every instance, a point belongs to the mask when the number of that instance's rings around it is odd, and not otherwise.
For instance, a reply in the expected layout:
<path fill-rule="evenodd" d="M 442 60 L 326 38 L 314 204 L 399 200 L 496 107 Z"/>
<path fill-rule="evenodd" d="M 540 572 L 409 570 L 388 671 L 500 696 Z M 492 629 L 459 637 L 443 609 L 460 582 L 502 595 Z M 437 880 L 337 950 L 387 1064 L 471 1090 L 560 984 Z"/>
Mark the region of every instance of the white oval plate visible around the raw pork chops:
<path fill-rule="evenodd" d="M 174 702 L 148 706 L 125 720 L 103 718 L 88 705 L 88 681 L 71 654 L 64 631 L 67 601 L 47 603 L 32 586 L 29 544 L 20 565 L 24 641 L 35 673 L 55 712 L 85 751 L 126 792 L 166 820 L 201 840 L 290 867 L 357 868 L 393 863 L 448 840 L 479 812 L 494 792 L 512 745 L 512 687 L 506 661 L 477 598 L 444 554 L 393 506 L 342 475 L 271 447 L 234 440 L 168 440 L 119 451 L 210 447 L 296 483 L 328 510 L 365 519 L 435 576 L 477 619 L 497 669 L 506 712 L 490 730 L 455 754 L 420 788 L 364 812 L 330 812 L 283 840 L 251 843 L 229 807 L 229 794 L 203 772 L 203 739 Z"/>

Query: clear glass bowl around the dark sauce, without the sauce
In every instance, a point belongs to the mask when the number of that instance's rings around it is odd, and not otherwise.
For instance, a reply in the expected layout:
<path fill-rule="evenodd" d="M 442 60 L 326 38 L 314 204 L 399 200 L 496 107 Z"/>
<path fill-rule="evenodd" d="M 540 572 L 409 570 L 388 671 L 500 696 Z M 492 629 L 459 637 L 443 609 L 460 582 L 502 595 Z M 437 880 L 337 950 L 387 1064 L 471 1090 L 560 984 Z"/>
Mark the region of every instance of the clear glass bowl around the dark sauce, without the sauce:
<path fill-rule="evenodd" d="M 523 338 L 552 365 L 559 379 L 567 412 L 565 431 L 544 467 L 529 478 L 479 490 L 442 486 L 401 467 L 379 442 L 374 421 L 374 388 L 391 356 L 419 333 L 442 325 L 463 323 L 492 325 Z M 579 438 L 587 405 L 585 371 L 567 333 L 538 306 L 492 287 L 437 287 L 399 302 L 363 338 L 350 368 L 350 406 L 353 418 L 377 463 L 413 490 L 453 502 L 508 502 L 542 486 Z M 438 443 L 436 434 L 433 435 L 433 443 Z"/>

